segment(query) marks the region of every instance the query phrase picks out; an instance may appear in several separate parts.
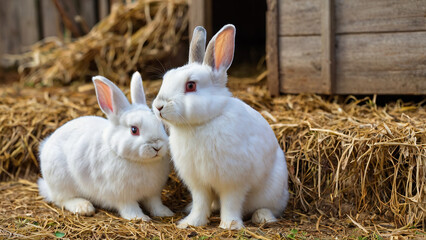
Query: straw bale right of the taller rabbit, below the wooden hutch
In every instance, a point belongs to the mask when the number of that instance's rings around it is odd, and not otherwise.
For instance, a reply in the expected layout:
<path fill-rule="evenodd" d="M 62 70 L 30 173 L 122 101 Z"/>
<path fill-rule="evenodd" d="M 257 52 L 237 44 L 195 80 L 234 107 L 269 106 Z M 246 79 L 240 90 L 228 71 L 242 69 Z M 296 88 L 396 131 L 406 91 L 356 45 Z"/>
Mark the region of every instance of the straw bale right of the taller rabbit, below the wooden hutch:
<path fill-rule="evenodd" d="M 424 102 L 288 95 L 269 103 L 254 90 L 236 95 L 262 111 L 287 153 L 294 208 L 426 226 Z"/>

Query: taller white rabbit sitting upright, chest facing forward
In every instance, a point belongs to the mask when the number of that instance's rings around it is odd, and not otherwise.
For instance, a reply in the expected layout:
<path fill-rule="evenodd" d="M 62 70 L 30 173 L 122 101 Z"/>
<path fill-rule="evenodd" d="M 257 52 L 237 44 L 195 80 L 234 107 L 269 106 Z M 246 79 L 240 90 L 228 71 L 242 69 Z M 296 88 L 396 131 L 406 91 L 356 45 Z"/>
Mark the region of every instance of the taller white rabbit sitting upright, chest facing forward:
<path fill-rule="evenodd" d="M 273 222 L 289 198 L 284 153 L 262 115 L 226 87 L 235 27 L 224 26 L 206 51 L 205 39 L 204 28 L 195 28 L 189 63 L 164 75 L 153 102 L 170 127 L 172 160 L 192 194 L 191 212 L 178 227 L 207 224 L 216 198 L 221 228 L 244 227 L 247 214 L 254 223 Z"/>

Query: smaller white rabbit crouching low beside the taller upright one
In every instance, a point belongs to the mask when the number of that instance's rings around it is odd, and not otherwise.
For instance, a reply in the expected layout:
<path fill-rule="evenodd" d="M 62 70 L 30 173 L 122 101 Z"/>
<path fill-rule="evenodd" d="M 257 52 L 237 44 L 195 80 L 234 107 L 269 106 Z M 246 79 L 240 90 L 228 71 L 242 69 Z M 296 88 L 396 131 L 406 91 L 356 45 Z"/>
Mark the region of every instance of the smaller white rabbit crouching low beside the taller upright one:
<path fill-rule="evenodd" d="M 141 201 L 153 216 L 172 216 L 161 202 L 170 170 L 168 137 L 146 105 L 140 74 L 131 80 L 133 104 L 108 79 L 96 76 L 93 83 L 108 119 L 74 119 L 43 141 L 40 194 L 83 215 L 94 214 L 93 203 L 125 219 L 149 221 Z"/>

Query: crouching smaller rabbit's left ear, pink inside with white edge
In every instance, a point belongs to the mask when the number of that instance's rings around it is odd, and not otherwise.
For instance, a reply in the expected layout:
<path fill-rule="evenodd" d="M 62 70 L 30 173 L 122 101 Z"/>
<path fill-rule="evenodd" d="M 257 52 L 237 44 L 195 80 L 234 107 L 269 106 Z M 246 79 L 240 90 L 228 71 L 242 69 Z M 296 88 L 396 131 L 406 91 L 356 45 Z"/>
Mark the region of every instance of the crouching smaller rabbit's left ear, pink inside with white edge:
<path fill-rule="evenodd" d="M 108 79 L 96 76 L 92 78 L 92 81 L 95 85 L 99 106 L 108 118 L 117 116 L 121 111 L 130 106 L 123 92 Z"/>

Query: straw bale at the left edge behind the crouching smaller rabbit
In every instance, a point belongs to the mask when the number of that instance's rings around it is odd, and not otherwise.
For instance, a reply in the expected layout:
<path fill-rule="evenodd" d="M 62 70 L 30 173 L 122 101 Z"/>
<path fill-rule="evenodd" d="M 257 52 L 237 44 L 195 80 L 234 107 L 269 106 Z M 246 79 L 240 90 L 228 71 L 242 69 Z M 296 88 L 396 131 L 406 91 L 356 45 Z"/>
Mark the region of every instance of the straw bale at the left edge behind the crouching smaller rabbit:
<path fill-rule="evenodd" d="M 54 95 L 37 89 L 3 89 L 0 95 L 0 179 L 27 177 L 38 169 L 40 141 L 65 122 L 99 114 L 86 94 Z"/>

